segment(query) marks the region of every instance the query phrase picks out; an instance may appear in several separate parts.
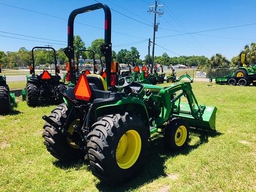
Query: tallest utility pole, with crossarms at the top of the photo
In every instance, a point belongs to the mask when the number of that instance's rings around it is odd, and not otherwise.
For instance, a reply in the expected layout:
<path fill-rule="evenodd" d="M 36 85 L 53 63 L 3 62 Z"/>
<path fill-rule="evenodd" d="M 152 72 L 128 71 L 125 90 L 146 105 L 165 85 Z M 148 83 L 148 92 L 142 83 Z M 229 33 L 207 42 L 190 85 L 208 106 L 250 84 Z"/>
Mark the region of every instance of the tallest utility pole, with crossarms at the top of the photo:
<path fill-rule="evenodd" d="M 156 8 L 157 7 L 163 7 L 163 6 L 164 6 L 164 4 L 161 4 L 161 5 L 157 4 L 157 0 L 155 0 L 155 5 L 149 5 L 148 6 L 149 7 L 149 10 L 148 10 L 149 14 L 152 13 L 152 12 L 154 12 L 154 14 L 155 14 L 155 16 L 154 16 L 154 26 L 153 26 L 154 32 L 153 32 L 153 47 L 152 47 L 152 65 L 151 65 L 151 69 L 150 69 L 151 73 L 153 71 L 153 65 L 154 65 L 156 32 L 158 30 L 158 25 L 159 25 L 159 23 L 156 24 L 156 14 L 158 14 L 159 16 L 164 14 L 164 12 L 160 9 L 158 11 L 156 11 Z M 155 10 L 153 10 L 153 7 L 155 7 Z"/>

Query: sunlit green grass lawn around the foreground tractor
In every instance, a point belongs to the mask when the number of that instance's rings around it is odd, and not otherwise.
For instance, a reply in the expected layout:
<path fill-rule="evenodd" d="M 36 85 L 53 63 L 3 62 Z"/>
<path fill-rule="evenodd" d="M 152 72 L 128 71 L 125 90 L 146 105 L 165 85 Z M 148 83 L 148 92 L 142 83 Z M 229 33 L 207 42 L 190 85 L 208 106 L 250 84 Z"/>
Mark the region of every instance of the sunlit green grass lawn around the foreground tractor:
<path fill-rule="evenodd" d="M 130 182 L 111 187 L 82 160 L 64 164 L 44 147 L 44 120 L 53 108 L 29 108 L 19 101 L 0 116 L 1 192 L 233 192 L 256 191 L 256 87 L 192 84 L 200 104 L 216 106 L 217 133 L 192 132 L 179 152 L 163 148 L 153 135 L 144 168 Z M 167 84 L 164 84 L 167 85 Z"/>

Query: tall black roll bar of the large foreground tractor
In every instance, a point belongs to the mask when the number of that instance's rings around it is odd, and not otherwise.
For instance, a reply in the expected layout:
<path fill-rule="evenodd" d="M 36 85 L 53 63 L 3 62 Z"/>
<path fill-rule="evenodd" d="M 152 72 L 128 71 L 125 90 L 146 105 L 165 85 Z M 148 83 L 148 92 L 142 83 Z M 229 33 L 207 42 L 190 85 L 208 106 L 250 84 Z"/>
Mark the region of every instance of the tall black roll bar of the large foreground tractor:
<path fill-rule="evenodd" d="M 110 68 L 112 62 L 112 44 L 111 44 L 111 11 L 110 8 L 101 3 L 92 4 L 83 8 L 73 10 L 68 17 L 68 47 L 63 51 L 68 57 L 70 64 L 70 79 L 72 83 L 76 83 L 76 70 L 75 70 L 75 53 L 74 53 L 74 20 L 78 14 L 90 12 L 102 8 L 105 13 L 105 33 L 104 44 L 100 46 L 105 61 L 107 76 L 110 76 Z M 107 78 L 107 85 L 110 86 L 110 78 Z"/>

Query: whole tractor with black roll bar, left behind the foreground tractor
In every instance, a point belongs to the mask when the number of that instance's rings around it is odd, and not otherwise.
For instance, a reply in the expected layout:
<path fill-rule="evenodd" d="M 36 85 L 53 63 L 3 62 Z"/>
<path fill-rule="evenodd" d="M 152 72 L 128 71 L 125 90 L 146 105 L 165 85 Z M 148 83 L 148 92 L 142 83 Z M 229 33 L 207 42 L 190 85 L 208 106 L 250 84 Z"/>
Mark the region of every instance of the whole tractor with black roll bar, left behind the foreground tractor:
<path fill-rule="evenodd" d="M 40 49 L 52 49 L 54 53 L 54 64 L 55 64 L 55 75 L 51 75 L 47 70 L 44 70 L 40 75 L 35 75 L 35 59 L 34 50 Z M 29 67 L 30 74 L 27 75 L 27 84 L 25 92 L 23 92 L 23 98 L 26 98 L 28 106 L 35 107 L 39 102 L 46 101 L 51 102 L 56 101 L 57 103 L 62 103 L 62 95 L 60 92 L 64 92 L 65 85 L 60 82 L 60 68 L 57 67 L 56 51 L 51 47 L 34 47 L 32 48 L 32 66 Z M 60 91 L 60 92 L 59 92 Z"/>

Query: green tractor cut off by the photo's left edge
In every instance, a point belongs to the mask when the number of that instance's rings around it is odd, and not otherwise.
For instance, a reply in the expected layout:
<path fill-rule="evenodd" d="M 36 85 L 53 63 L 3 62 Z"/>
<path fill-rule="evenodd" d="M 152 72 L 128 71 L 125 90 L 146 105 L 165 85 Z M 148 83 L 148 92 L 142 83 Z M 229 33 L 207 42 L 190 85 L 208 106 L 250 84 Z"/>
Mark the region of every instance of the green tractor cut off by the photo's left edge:
<path fill-rule="evenodd" d="M 16 107 L 15 95 L 14 93 L 10 93 L 8 84 L 6 84 L 6 76 L 0 75 L 0 114 L 7 114 L 11 111 L 12 107 Z"/>

